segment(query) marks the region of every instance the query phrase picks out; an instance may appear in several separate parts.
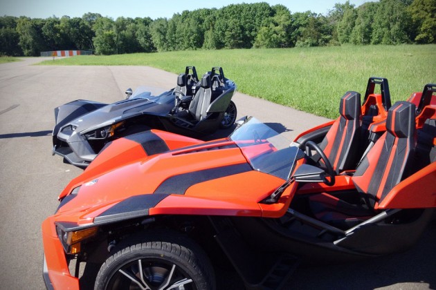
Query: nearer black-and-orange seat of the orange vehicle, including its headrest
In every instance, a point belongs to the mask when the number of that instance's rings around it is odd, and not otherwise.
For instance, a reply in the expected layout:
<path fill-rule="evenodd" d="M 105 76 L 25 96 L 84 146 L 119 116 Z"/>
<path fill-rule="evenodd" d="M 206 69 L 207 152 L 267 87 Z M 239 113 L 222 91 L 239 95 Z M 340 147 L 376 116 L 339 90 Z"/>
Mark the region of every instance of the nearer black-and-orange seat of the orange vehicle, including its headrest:
<path fill-rule="evenodd" d="M 415 150 L 415 105 L 397 101 L 388 111 L 386 132 L 356 168 L 352 181 L 377 209 L 379 202 L 407 175 Z"/>

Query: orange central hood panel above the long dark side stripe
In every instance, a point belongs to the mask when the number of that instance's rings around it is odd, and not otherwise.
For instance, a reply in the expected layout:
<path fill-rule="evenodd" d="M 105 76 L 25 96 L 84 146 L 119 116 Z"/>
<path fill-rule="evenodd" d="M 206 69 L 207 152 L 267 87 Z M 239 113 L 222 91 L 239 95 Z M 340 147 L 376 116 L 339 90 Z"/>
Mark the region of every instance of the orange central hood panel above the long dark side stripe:
<path fill-rule="evenodd" d="M 88 208 L 93 212 L 96 204 L 101 207 L 134 195 L 151 194 L 165 179 L 174 175 L 246 163 L 239 148 L 197 153 L 181 152 L 183 151 L 145 157 L 143 160 L 118 167 L 116 171 L 109 171 L 100 176 L 80 175 L 62 192 L 67 194 L 75 187 L 83 185 L 80 194 L 62 206 L 59 213 L 78 209 L 78 206 L 83 209 L 83 213 Z M 91 180 L 98 180 L 98 182 L 87 186 L 87 182 Z"/>

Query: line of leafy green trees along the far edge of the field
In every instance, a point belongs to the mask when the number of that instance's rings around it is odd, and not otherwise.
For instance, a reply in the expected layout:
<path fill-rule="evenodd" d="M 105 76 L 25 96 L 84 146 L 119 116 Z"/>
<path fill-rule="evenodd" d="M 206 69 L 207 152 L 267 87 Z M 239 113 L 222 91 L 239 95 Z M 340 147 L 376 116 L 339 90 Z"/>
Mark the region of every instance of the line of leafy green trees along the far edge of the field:
<path fill-rule="evenodd" d="M 222 48 L 292 48 L 345 43 L 436 43 L 436 0 L 336 3 L 327 14 L 268 3 L 185 10 L 170 19 L 113 20 L 98 13 L 47 19 L 0 17 L 0 55 L 93 50 L 97 55 Z"/>

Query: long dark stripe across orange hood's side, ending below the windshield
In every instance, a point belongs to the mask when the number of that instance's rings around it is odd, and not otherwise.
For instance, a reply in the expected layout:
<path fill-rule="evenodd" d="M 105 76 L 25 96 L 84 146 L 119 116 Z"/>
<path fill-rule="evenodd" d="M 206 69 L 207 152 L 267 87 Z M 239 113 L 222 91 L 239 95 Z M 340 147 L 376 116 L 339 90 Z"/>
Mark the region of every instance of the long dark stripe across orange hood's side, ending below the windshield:
<path fill-rule="evenodd" d="M 174 175 L 162 182 L 154 193 L 183 195 L 194 184 L 252 170 L 248 163 L 242 163 Z"/>

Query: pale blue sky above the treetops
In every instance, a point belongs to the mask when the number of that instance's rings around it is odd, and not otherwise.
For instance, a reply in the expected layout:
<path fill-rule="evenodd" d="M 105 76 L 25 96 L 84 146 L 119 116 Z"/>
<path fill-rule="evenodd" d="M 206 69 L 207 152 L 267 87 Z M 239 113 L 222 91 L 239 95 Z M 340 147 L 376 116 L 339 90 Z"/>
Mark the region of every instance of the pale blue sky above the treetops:
<path fill-rule="evenodd" d="M 292 12 L 311 12 L 327 14 L 334 8 L 335 3 L 345 3 L 346 0 L 246 0 L 246 1 L 199 1 L 199 0 L 0 0 L 0 15 L 27 16 L 30 18 L 82 17 L 87 12 L 100 13 L 102 16 L 112 17 L 159 17 L 170 18 L 174 13 L 183 10 L 199 8 L 221 8 L 233 3 L 267 2 L 271 6 L 282 4 Z M 356 7 L 368 0 L 350 0 Z"/>

